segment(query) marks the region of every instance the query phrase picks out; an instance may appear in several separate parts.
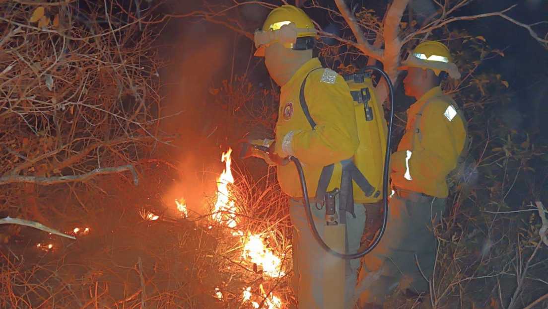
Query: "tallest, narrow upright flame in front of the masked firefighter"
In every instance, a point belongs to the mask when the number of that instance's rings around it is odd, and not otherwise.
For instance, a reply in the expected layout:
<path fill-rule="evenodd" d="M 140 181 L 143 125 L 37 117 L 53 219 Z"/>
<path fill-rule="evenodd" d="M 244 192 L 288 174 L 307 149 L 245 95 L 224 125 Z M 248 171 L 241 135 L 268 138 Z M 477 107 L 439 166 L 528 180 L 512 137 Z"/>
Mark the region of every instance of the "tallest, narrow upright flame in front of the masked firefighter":
<path fill-rule="evenodd" d="M 230 165 L 232 159 L 230 154 L 232 149 L 229 148 L 226 153 L 222 153 L 221 162 L 225 162 L 225 170 L 222 171 L 221 176 L 217 179 L 217 201 L 213 210 L 213 219 L 218 222 L 225 222 L 228 227 L 234 228 L 238 224 L 236 221 L 236 207 L 233 200 L 231 200 L 229 192 L 229 183 L 234 183 L 234 177 Z"/>

